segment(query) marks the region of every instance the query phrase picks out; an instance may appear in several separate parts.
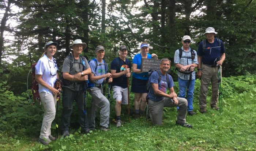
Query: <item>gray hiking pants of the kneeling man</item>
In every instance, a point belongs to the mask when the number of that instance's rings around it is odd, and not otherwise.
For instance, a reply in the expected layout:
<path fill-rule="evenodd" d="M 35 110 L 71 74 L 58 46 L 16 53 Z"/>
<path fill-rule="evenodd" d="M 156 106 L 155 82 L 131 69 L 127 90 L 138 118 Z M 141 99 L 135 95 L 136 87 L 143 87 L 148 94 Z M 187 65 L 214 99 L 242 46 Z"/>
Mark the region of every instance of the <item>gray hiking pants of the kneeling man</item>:
<path fill-rule="evenodd" d="M 186 114 L 188 101 L 185 98 L 177 98 L 178 105 L 175 105 L 170 98 L 163 98 L 160 101 L 153 101 L 148 99 L 148 108 L 150 113 L 151 121 L 154 125 L 161 125 L 163 118 L 163 107 L 175 107 L 179 106 L 177 122 L 184 124 L 186 122 Z"/>

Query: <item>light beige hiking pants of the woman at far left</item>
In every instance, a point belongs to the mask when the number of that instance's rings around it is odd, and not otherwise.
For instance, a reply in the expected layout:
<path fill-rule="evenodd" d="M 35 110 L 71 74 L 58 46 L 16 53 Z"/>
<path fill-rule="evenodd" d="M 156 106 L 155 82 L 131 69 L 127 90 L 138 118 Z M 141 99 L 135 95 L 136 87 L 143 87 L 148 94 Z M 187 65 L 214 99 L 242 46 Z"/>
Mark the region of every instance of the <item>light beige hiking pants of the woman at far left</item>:
<path fill-rule="evenodd" d="M 55 105 L 56 105 L 56 95 L 53 96 L 52 94 L 41 92 L 39 93 L 42 104 L 45 109 L 42 127 L 40 131 L 40 138 L 43 139 L 44 137 L 47 139 L 49 135 L 51 135 L 51 125 L 52 121 L 55 118 Z"/>

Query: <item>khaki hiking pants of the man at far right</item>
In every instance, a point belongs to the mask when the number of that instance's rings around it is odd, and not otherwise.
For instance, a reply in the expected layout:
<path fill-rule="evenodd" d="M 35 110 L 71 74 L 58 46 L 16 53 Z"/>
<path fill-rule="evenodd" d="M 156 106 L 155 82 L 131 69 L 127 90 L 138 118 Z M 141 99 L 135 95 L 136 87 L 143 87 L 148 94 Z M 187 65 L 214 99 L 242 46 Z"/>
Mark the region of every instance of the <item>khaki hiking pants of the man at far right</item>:
<path fill-rule="evenodd" d="M 218 67 L 209 67 L 202 64 L 202 77 L 199 94 L 199 107 L 206 107 L 206 98 L 208 86 L 211 82 L 212 93 L 211 93 L 211 106 L 217 106 L 219 98 L 219 82 L 218 82 Z"/>

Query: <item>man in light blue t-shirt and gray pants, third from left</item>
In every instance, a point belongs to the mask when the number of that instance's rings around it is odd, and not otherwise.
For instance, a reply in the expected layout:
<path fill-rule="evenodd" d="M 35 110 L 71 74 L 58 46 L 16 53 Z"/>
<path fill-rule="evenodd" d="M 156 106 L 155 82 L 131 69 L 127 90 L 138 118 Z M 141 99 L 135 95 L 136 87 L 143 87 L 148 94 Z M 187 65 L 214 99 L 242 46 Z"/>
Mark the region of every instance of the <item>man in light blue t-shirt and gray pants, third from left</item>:
<path fill-rule="evenodd" d="M 100 110 L 100 130 L 108 131 L 110 104 L 108 99 L 103 95 L 102 84 L 108 79 L 108 83 L 113 82 L 111 73 L 108 73 L 108 65 L 103 60 L 105 49 L 103 46 L 97 46 L 95 49 L 96 60 L 89 62 L 91 68 L 90 82 L 88 92 L 92 97 L 91 111 L 89 112 L 89 128 L 95 128 L 95 117 L 98 109 Z M 97 67 L 97 68 L 95 68 Z"/>

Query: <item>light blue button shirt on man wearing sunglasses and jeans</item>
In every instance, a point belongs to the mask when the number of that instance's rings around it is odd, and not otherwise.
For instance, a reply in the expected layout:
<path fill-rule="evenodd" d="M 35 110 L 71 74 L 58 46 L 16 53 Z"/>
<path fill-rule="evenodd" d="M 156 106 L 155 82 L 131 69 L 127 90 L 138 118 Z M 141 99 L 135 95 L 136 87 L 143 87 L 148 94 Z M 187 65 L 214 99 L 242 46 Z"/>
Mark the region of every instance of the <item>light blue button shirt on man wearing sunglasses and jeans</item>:
<path fill-rule="evenodd" d="M 183 46 L 181 47 L 181 49 L 182 49 L 182 56 L 181 57 L 191 57 L 190 47 L 189 47 L 188 52 L 184 51 Z M 197 54 L 196 54 L 195 50 L 194 50 L 194 53 L 195 53 L 195 58 L 194 58 L 194 60 L 192 60 L 192 59 L 189 59 L 189 58 L 180 58 L 180 50 L 179 49 L 176 50 L 176 52 L 174 54 L 174 64 L 181 64 L 183 66 L 193 64 L 193 63 L 198 64 Z M 189 71 L 185 71 L 185 72 L 189 73 Z M 190 74 L 184 74 L 184 73 L 178 72 L 178 76 L 183 80 L 189 80 Z M 195 78 L 196 78 L 196 72 L 194 71 L 194 72 L 192 72 L 192 79 L 195 79 Z"/>

